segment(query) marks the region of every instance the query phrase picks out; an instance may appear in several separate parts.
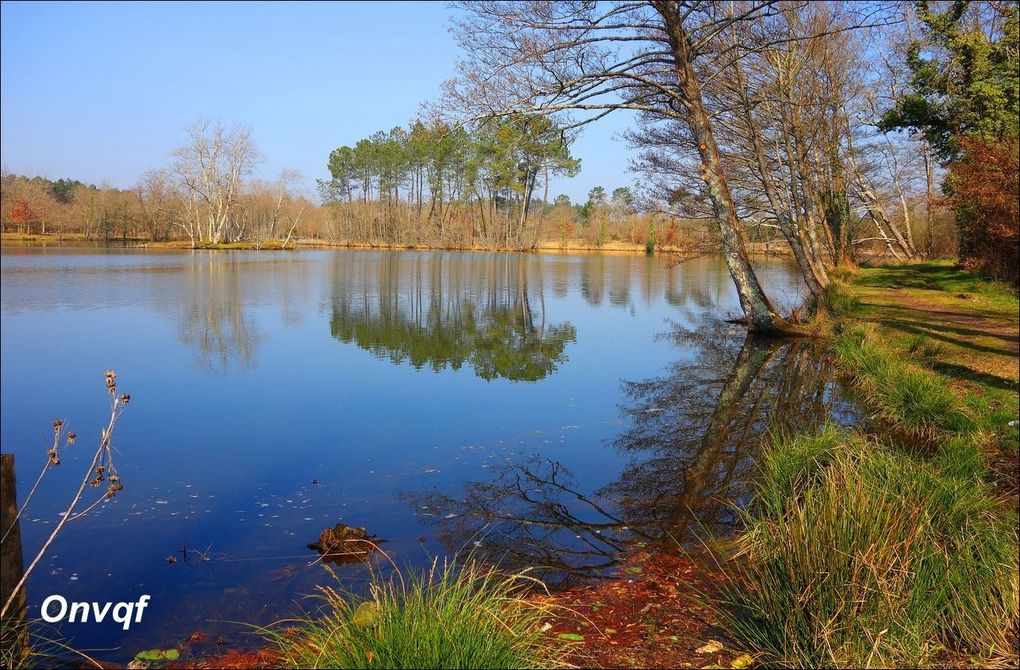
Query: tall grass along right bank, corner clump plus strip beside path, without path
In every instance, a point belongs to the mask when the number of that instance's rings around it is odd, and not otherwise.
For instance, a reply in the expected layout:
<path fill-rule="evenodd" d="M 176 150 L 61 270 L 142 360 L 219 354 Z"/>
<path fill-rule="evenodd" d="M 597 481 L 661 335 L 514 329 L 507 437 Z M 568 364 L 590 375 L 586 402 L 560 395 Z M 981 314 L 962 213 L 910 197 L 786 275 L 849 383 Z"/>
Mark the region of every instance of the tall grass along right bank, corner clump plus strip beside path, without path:
<path fill-rule="evenodd" d="M 927 338 L 898 349 L 855 321 L 865 306 L 842 281 L 826 299 L 830 352 L 875 419 L 861 428 L 878 430 L 772 440 L 709 604 L 767 665 L 1015 666 L 1017 513 L 985 462 L 989 441 L 1016 434 L 1010 411 L 919 364 L 945 353 Z"/>

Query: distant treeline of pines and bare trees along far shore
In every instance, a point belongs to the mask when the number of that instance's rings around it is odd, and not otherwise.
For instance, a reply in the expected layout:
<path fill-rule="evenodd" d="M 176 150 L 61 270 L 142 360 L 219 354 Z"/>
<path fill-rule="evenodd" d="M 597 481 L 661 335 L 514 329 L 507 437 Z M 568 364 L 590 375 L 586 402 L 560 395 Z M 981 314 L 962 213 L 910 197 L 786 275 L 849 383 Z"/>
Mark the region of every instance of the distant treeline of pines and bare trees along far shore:
<path fill-rule="evenodd" d="M 629 187 L 612 193 L 595 187 L 583 203 L 566 195 L 550 199 L 550 179 L 576 174 L 580 161 L 570 154 L 570 138 L 545 117 L 518 116 L 473 132 L 416 120 L 376 133 L 329 154 L 330 178 L 317 182 L 319 203 L 296 188 L 295 172 L 272 182 L 248 178 L 258 152 L 247 128 L 199 121 L 190 134 L 169 168 L 146 172 L 130 190 L 3 174 L 3 229 L 256 246 L 295 238 L 483 249 L 717 244 L 705 221 L 641 207 Z M 752 237 L 778 238 L 760 226 Z"/>

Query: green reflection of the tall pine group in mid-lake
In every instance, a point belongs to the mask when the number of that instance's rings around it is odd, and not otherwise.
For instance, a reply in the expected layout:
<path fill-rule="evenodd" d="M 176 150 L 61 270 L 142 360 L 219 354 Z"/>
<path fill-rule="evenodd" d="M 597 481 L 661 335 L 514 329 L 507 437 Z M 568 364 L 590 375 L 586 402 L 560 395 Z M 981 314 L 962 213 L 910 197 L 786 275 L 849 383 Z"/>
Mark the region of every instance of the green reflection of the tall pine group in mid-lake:
<path fill-rule="evenodd" d="M 566 360 L 576 330 L 546 321 L 545 288 L 520 257 L 445 254 L 334 264 L 333 336 L 394 363 L 440 371 L 465 363 L 483 379 L 536 381 Z"/>

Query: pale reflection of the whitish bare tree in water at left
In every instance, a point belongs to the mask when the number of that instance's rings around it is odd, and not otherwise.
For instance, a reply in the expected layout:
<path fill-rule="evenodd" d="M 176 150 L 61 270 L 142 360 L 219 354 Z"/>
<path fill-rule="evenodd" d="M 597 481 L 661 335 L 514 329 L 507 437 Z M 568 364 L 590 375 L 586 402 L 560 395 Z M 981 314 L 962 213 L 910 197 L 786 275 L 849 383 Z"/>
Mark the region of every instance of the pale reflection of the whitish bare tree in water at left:
<path fill-rule="evenodd" d="M 213 372 L 231 365 L 255 367 L 262 337 L 245 311 L 241 264 L 208 256 L 187 266 L 189 302 L 182 305 L 181 341 L 196 349 L 196 362 Z"/>

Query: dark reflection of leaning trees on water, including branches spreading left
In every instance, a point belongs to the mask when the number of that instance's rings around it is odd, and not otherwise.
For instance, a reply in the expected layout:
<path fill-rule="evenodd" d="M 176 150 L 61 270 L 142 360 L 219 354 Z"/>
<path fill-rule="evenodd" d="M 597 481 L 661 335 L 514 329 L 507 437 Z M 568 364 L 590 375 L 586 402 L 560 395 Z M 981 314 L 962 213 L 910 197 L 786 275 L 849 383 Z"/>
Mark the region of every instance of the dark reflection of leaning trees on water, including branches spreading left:
<path fill-rule="evenodd" d="M 612 446 L 630 459 L 615 480 L 586 486 L 564 463 L 532 457 L 461 495 L 405 499 L 446 551 L 543 566 L 551 581 L 599 573 L 633 540 L 668 548 L 731 528 L 729 501 L 746 501 L 763 435 L 817 424 L 843 402 L 816 343 L 753 340 L 717 322 L 666 337 L 693 355 L 623 383 L 628 426 Z"/>

